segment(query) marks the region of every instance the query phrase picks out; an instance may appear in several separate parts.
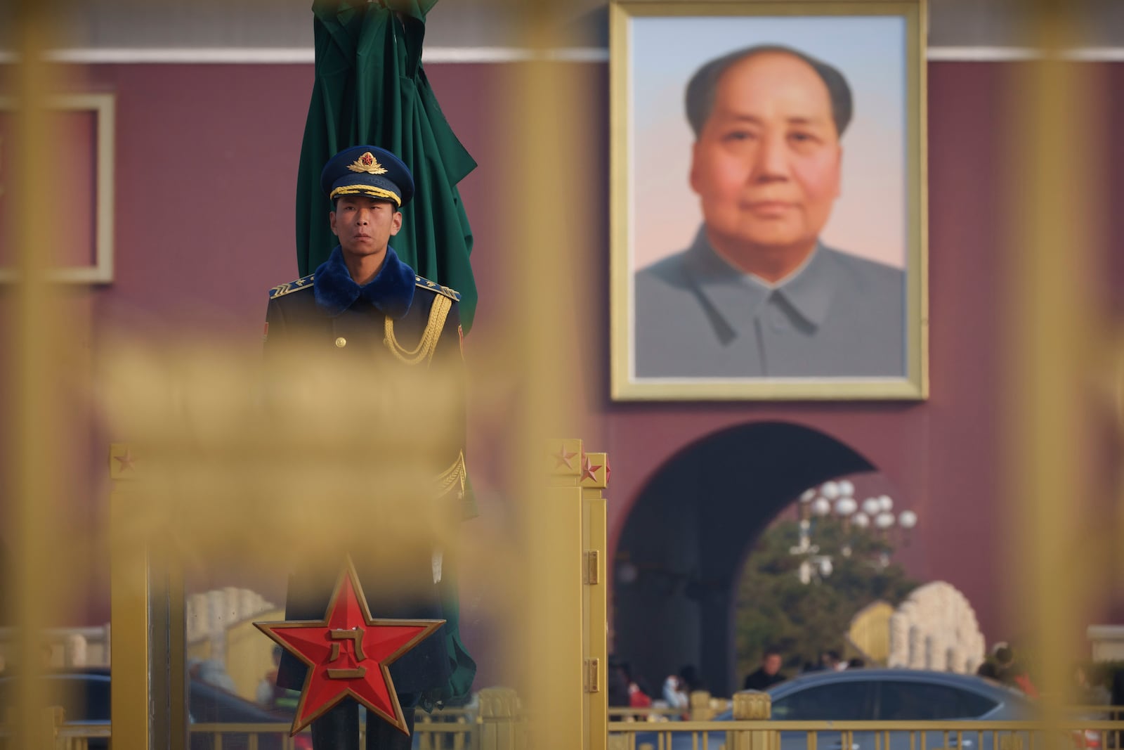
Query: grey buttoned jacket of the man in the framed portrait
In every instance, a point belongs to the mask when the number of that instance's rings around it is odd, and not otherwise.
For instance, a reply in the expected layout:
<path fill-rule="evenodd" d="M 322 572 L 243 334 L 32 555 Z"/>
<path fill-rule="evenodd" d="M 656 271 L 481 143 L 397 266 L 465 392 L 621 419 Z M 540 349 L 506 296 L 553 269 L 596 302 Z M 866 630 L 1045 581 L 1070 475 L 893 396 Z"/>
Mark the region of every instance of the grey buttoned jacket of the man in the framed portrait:
<path fill-rule="evenodd" d="M 903 378 L 905 273 L 817 244 L 777 286 L 719 257 L 705 227 L 634 277 L 635 378 Z"/>

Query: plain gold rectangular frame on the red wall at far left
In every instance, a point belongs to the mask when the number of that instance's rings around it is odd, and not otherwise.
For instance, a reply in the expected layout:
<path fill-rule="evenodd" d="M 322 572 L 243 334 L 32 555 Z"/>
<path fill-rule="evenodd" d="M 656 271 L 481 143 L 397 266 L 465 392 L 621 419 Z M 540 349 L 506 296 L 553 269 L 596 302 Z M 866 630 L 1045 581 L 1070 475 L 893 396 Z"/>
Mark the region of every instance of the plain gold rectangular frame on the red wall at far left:
<path fill-rule="evenodd" d="M 117 134 L 111 93 L 72 93 L 51 97 L 51 109 L 94 115 L 93 262 L 52 269 L 48 279 L 61 283 L 110 283 L 114 280 L 114 143 Z M 13 111 L 16 101 L 0 97 L 0 111 Z M 19 273 L 0 268 L 0 283 L 19 280 Z"/>

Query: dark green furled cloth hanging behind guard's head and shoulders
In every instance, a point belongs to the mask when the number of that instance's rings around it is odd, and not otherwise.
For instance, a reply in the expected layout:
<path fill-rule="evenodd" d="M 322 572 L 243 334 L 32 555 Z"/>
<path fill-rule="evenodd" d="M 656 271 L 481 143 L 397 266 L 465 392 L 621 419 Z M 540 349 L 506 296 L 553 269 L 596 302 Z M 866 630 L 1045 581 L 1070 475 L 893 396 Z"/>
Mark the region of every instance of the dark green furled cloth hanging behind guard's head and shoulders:
<path fill-rule="evenodd" d="M 336 238 L 320 170 L 336 152 L 371 144 L 414 172 L 414 200 L 391 241 L 420 275 L 461 292 L 468 331 L 477 309 L 472 229 L 456 184 L 477 163 L 456 139 L 422 69 L 426 13 L 437 0 L 314 0 L 316 84 L 297 175 L 297 265 L 328 259 Z"/>

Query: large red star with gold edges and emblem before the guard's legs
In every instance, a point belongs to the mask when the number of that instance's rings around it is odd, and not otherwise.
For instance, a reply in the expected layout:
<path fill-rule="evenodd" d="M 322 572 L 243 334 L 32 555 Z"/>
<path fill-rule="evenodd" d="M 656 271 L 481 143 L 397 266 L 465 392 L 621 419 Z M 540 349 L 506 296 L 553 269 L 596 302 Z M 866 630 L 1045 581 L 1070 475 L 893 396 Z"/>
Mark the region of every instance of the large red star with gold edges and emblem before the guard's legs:
<path fill-rule="evenodd" d="M 323 621 L 254 623 L 308 665 L 290 734 L 297 734 L 346 697 L 355 698 L 409 734 L 389 667 L 444 623 L 373 618 L 351 558 Z"/>

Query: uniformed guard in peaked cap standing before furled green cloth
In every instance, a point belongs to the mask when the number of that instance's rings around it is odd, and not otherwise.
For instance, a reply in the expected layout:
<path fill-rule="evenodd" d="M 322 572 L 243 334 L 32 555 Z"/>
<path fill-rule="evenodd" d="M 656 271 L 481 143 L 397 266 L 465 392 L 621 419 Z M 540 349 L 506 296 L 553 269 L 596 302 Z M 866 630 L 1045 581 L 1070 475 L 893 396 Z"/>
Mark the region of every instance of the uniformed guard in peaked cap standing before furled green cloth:
<path fill-rule="evenodd" d="M 325 360 L 354 364 L 361 362 L 372 373 L 370 389 L 380 388 L 379 373 L 389 370 L 420 372 L 419 369 L 455 367 L 456 388 L 463 387 L 460 368 L 461 326 L 457 313 L 460 296 L 417 275 L 404 263 L 390 238 L 402 223 L 400 208 L 414 196 L 414 178 L 395 154 L 370 145 L 339 152 L 325 165 L 320 187 L 332 200 L 329 222 L 339 244 L 316 271 L 270 290 L 265 323 L 266 363 L 284 368 L 287 356 L 323 356 Z M 465 507 L 464 517 L 474 515 L 470 498 L 464 497 L 464 412 L 454 417 L 459 425 L 459 445 L 443 444 L 442 470 L 437 473 L 442 491 L 456 493 Z M 372 430 L 386 425 L 372 425 Z M 424 515 L 424 514 L 423 514 Z M 365 519 L 377 524 L 377 519 Z M 342 558 L 341 558 L 342 561 Z M 437 633 L 423 641 L 391 665 L 391 677 L 399 702 L 413 731 L 414 707 L 432 707 L 439 699 L 468 694 L 475 665 L 464 650 L 457 631 L 455 580 L 442 576 L 439 552 L 424 564 L 414 561 L 417 577 L 432 576 L 429 590 L 408 603 L 380 597 L 378 576 L 360 580 L 366 589 L 374 617 L 446 620 Z M 447 564 L 447 561 L 446 561 Z M 325 615 L 335 584 L 333 575 L 298 570 L 290 577 L 285 620 L 320 620 Z M 446 568 L 447 570 L 447 568 Z M 306 668 L 285 652 L 278 674 L 281 687 L 301 689 Z M 359 749 L 359 706 L 345 699 L 312 722 L 312 742 L 317 750 Z M 409 748 L 410 738 L 368 712 L 366 748 Z"/>

